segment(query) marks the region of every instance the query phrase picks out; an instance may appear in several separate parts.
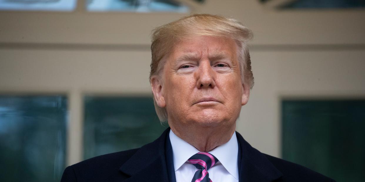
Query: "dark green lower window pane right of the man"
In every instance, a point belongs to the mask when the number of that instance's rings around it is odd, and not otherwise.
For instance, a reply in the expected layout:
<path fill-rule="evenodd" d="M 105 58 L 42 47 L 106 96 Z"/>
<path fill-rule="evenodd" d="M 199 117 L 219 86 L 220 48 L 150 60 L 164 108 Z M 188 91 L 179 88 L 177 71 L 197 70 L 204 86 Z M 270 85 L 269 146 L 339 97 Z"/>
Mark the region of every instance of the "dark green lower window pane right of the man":
<path fill-rule="evenodd" d="M 365 181 L 365 100 L 286 100 L 283 158 L 336 181 Z"/>

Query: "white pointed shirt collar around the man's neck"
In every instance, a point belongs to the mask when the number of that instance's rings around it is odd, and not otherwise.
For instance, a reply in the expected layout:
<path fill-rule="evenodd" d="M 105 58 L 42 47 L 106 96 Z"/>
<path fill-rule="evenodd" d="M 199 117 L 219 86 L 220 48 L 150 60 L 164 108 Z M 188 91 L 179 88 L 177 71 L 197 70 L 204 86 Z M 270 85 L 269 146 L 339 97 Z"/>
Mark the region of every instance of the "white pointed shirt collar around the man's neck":
<path fill-rule="evenodd" d="M 170 142 L 173 151 L 174 167 L 177 171 L 191 156 L 200 152 L 194 146 L 177 137 L 170 130 Z M 236 132 L 233 133 L 231 139 L 221 146 L 209 151 L 214 155 L 226 170 L 236 179 L 238 179 L 238 143 Z"/>

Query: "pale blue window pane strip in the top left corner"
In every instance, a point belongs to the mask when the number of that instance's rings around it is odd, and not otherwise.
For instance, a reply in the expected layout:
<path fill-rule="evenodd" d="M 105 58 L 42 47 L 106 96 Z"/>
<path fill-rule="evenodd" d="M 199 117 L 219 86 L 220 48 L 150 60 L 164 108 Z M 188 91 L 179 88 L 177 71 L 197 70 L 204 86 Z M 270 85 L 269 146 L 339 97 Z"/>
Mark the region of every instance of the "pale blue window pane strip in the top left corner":
<path fill-rule="evenodd" d="M 73 11 L 77 0 L 0 0 L 0 10 Z"/>

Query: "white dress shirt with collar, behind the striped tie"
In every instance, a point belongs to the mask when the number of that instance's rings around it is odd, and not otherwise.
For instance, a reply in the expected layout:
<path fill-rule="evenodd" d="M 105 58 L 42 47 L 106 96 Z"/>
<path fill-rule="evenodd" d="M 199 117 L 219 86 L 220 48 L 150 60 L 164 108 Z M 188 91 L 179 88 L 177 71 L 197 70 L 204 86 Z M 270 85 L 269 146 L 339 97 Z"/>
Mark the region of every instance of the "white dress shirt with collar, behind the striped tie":
<path fill-rule="evenodd" d="M 172 145 L 176 182 L 191 182 L 195 171 L 194 165 L 188 159 L 200 152 L 194 146 L 177 137 L 170 130 L 170 141 Z M 221 146 L 209 151 L 219 162 L 208 170 L 209 178 L 212 182 L 238 182 L 238 143 L 236 133 L 231 139 Z"/>

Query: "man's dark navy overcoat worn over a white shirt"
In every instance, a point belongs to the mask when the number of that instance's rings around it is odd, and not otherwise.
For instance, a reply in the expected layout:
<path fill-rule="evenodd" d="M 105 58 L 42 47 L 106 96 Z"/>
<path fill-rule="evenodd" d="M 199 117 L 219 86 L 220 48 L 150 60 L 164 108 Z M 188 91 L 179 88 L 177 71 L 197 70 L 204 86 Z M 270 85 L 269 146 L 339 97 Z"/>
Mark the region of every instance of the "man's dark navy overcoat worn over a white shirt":
<path fill-rule="evenodd" d="M 87 159 L 68 166 L 61 182 L 176 182 L 168 128 L 139 149 Z M 306 167 L 262 154 L 236 132 L 240 182 L 333 182 Z"/>

